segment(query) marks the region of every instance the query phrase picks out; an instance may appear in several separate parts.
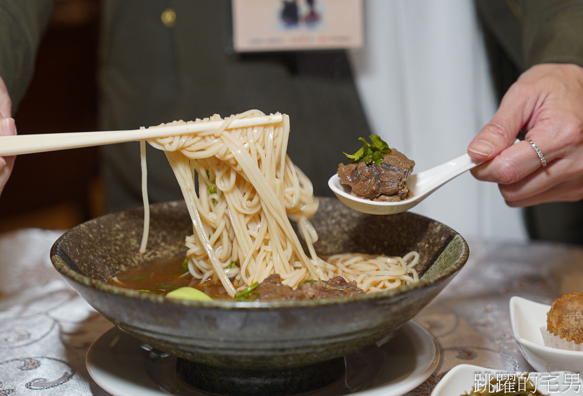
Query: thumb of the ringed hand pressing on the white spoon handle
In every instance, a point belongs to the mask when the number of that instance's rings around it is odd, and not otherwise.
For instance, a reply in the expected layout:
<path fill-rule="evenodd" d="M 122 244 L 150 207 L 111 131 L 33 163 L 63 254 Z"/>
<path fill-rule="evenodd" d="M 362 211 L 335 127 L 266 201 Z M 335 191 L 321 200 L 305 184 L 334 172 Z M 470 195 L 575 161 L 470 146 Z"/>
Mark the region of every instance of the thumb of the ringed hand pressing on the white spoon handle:
<path fill-rule="evenodd" d="M 508 148 L 532 114 L 534 101 L 524 89 L 510 87 L 494 117 L 470 142 L 468 155 L 477 161 L 493 159 Z"/>

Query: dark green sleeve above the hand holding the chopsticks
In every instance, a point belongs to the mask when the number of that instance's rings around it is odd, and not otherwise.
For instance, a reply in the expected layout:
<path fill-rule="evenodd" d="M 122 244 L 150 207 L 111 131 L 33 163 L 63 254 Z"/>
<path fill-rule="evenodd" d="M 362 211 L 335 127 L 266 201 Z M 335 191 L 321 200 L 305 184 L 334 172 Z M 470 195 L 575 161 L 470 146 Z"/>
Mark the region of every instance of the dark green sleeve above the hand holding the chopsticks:
<path fill-rule="evenodd" d="M 34 71 L 34 59 L 54 0 L 0 0 L 0 76 L 8 87 L 12 113 Z"/>

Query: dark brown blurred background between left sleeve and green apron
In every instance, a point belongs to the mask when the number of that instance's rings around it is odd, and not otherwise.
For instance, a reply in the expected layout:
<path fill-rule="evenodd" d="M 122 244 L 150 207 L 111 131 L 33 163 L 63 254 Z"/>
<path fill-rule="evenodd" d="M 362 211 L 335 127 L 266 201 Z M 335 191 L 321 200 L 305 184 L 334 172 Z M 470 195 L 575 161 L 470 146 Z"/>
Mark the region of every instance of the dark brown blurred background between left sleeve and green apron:
<path fill-rule="evenodd" d="M 13 116 L 18 134 L 97 130 L 99 0 L 58 0 L 36 73 Z M 103 213 L 96 147 L 21 155 L 0 196 L 0 232 L 65 229 Z"/>

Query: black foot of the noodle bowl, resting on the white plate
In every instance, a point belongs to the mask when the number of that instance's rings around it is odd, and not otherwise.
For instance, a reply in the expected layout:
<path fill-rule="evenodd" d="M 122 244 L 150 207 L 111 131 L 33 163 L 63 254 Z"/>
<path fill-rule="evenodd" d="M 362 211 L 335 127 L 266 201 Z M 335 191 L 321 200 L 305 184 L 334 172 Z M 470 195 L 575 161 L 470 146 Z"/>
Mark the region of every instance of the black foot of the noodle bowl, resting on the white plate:
<path fill-rule="evenodd" d="M 189 386 L 217 395 L 286 396 L 329 386 L 345 373 L 345 358 L 270 372 L 220 369 L 177 359 L 178 377 Z"/>

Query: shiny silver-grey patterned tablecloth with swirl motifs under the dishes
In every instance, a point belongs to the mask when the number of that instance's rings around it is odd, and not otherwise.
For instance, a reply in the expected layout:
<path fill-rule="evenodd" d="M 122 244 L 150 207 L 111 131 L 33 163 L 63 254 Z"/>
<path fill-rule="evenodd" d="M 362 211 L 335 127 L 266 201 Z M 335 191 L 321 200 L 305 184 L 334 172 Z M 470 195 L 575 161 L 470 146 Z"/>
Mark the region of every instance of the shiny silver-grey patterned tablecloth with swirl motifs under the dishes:
<path fill-rule="evenodd" d="M 24 229 L 0 236 L 0 396 L 107 395 L 85 355 L 111 327 L 52 268 L 61 233 Z M 469 241 L 461 273 L 415 321 L 436 338 L 436 372 L 409 395 L 429 395 L 461 363 L 532 370 L 512 338 L 511 296 L 550 303 L 581 291 L 583 249 L 547 243 Z"/>

